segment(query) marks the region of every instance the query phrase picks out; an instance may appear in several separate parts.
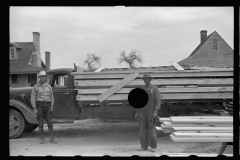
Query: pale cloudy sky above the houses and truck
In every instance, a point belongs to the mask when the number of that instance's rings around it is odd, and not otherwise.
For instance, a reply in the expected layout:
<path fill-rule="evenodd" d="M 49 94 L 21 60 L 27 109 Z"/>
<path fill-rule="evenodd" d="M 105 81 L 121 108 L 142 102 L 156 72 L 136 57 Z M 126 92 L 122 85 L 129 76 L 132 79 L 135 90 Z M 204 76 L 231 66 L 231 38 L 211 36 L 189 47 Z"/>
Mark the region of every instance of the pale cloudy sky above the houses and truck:
<path fill-rule="evenodd" d="M 188 57 L 200 31 L 214 31 L 233 47 L 233 7 L 10 7 L 10 42 L 32 42 L 40 33 L 40 53 L 51 52 L 51 69 L 87 68 L 87 54 L 106 68 L 118 64 L 120 51 L 137 50 L 141 67 L 169 66 Z"/>

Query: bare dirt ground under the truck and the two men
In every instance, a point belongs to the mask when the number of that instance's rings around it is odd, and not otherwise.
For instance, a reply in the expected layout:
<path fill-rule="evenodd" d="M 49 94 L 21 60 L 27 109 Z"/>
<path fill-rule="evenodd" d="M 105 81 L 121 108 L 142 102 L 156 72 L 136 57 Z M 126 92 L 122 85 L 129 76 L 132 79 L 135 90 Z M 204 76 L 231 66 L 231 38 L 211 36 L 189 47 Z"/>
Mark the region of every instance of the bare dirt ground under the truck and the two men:
<path fill-rule="evenodd" d="M 49 142 L 44 125 L 45 143 L 39 144 L 38 128 L 18 139 L 10 139 L 10 156 L 156 156 L 162 152 L 217 154 L 221 143 L 176 143 L 169 134 L 158 137 L 157 152 L 138 151 L 139 123 L 134 120 L 88 119 L 74 124 L 54 124 L 57 144 Z M 224 154 L 233 154 L 227 146 Z"/>

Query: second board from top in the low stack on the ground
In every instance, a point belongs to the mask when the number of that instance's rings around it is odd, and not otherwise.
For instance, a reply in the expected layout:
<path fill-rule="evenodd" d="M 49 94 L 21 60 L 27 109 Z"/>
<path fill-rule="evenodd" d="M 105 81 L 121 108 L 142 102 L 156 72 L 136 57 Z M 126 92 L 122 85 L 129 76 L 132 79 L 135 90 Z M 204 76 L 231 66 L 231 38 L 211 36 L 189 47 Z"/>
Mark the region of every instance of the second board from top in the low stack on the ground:
<path fill-rule="evenodd" d="M 175 131 L 233 131 L 233 127 L 173 127 Z"/>

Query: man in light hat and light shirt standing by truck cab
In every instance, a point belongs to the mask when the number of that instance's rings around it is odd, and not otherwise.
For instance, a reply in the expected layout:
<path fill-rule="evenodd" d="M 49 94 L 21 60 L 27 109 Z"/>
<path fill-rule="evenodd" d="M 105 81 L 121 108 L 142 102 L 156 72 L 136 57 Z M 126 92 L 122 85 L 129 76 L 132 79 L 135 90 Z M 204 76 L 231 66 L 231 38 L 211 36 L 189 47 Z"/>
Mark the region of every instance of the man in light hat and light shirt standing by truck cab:
<path fill-rule="evenodd" d="M 37 114 L 38 128 L 40 133 L 40 144 L 44 143 L 44 119 L 48 124 L 48 130 L 51 135 L 50 142 L 56 144 L 57 141 L 53 137 L 52 123 L 52 112 L 54 105 L 52 87 L 46 83 L 47 75 L 45 71 L 40 71 L 38 77 L 40 81 L 33 87 L 31 94 L 31 103 L 32 107 L 34 108 L 34 113 Z"/>

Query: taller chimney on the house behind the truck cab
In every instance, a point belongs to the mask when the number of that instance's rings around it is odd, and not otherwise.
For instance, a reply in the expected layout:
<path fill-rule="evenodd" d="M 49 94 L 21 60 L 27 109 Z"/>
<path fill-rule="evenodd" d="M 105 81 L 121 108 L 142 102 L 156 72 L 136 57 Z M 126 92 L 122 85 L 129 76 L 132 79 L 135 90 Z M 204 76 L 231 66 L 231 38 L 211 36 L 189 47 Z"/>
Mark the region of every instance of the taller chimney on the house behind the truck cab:
<path fill-rule="evenodd" d="M 36 62 L 33 64 L 35 64 L 38 67 L 41 67 L 40 33 L 39 32 L 33 32 L 33 57 L 32 58 L 37 58 L 37 59 L 33 59 L 33 62 Z"/>

